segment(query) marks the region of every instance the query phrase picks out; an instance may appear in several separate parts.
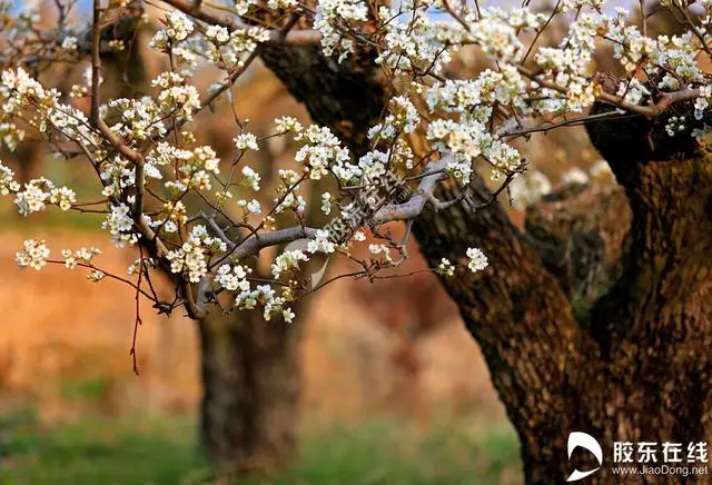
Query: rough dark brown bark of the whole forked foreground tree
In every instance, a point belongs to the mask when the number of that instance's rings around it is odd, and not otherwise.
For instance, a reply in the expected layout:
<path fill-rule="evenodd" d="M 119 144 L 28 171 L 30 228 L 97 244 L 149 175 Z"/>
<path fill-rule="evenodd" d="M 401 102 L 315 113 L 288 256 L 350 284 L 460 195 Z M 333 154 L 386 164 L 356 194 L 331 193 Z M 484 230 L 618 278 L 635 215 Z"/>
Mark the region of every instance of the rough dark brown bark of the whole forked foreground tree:
<path fill-rule="evenodd" d="M 314 48 L 270 47 L 264 60 L 316 122 L 366 149 L 359 130 L 378 117 L 386 92 L 376 68 L 363 59 L 338 66 Z M 343 89 L 342 79 L 362 83 Z M 558 195 L 530 211 L 526 231 L 496 204 L 478 212 L 428 207 L 414 226 L 433 267 L 472 246 L 490 259 L 481 274 L 442 283 L 487 360 L 528 484 L 566 479 L 577 465 L 566 456 L 572 430 L 604 448 L 592 484 L 622 482 L 610 468 L 614 441 L 712 438 L 712 160 L 670 143 L 655 150 L 647 125 L 632 122 L 637 128 L 591 131 L 624 191 Z M 675 151 L 686 155 L 676 159 Z M 447 186 L 438 197 L 459 190 Z M 471 190 L 486 198 L 482 181 Z M 705 479 L 639 475 L 626 483 Z"/>

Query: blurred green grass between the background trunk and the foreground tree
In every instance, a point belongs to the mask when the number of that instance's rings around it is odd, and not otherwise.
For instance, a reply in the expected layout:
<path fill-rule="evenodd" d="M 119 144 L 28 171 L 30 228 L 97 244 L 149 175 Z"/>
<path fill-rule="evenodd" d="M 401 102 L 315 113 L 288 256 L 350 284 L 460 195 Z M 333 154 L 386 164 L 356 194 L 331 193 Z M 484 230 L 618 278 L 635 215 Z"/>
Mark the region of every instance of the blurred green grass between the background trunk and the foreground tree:
<path fill-rule="evenodd" d="M 303 458 L 271 483 L 498 484 L 517 471 L 516 438 L 506 428 L 474 435 L 454 426 L 423 430 L 383 420 L 307 433 Z"/>

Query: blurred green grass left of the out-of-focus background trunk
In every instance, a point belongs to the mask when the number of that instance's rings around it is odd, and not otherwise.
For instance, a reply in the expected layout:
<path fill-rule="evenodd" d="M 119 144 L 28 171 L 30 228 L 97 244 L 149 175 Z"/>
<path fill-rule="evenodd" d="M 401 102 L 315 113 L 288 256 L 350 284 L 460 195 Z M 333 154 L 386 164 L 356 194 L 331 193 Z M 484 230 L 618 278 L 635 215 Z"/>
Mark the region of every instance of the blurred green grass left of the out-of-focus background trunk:
<path fill-rule="evenodd" d="M 4 432 L 0 483 L 178 484 L 206 468 L 192 419 L 88 418 Z"/>

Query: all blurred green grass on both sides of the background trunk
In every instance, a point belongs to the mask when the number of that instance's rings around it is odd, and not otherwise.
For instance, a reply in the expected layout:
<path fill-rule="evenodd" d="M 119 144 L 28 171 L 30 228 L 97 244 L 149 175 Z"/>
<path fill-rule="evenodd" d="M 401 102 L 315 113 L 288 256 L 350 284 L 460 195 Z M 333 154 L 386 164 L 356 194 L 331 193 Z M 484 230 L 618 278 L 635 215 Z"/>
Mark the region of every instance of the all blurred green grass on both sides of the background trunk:
<path fill-rule="evenodd" d="M 301 456 L 245 485 L 457 485 L 521 483 L 516 438 L 504 424 L 415 429 L 393 420 L 306 426 Z M 191 418 L 90 417 L 42 429 L 0 427 L 0 484 L 189 484 L 209 476 Z M 200 482 L 206 483 L 206 482 Z"/>

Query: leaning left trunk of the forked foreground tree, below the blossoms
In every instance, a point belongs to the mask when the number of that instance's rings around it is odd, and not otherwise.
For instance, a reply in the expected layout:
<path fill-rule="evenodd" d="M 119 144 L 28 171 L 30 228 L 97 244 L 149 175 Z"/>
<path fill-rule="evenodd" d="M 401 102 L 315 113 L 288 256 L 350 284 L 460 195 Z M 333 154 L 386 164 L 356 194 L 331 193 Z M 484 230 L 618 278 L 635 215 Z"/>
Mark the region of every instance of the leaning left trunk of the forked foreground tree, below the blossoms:
<path fill-rule="evenodd" d="M 456 191 L 443 190 L 441 197 Z M 483 275 L 464 273 L 442 283 L 479 344 L 517 430 L 527 482 L 562 482 L 564 439 L 577 429 L 573 424 L 581 414 L 585 356 L 595 352 L 575 325 L 566 294 L 500 206 L 477 214 L 464 206 L 428 209 L 414 235 L 432 266 L 443 257 L 462 259 L 467 247 L 487 255 Z"/>

